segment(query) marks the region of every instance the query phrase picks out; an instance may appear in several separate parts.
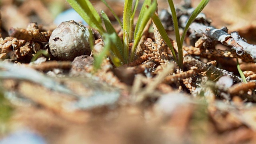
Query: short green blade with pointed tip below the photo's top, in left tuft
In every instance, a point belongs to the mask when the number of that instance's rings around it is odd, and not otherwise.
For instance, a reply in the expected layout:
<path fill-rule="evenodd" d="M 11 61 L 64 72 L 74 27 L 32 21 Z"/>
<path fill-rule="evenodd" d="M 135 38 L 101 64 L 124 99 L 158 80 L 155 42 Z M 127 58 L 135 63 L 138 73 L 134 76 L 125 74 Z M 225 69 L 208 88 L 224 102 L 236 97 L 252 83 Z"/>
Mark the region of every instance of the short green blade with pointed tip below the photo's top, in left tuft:
<path fill-rule="evenodd" d="M 104 13 L 103 11 L 101 11 L 101 15 L 102 15 L 102 19 L 103 19 L 103 22 L 105 24 L 105 27 L 106 27 L 106 30 L 108 32 L 108 34 L 112 34 L 114 33 L 116 36 L 115 36 L 115 43 L 114 45 L 116 46 L 117 48 L 117 52 L 118 53 L 118 57 L 120 58 L 120 60 L 122 62 L 123 61 L 123 44 L 122 44 L 122 40 L 119 38 L 118 34 L 116 33 L 116 30 L 114 29 L 113 25 L 111 24 L 108 16 L 106 15 L 106 13 Z"/>

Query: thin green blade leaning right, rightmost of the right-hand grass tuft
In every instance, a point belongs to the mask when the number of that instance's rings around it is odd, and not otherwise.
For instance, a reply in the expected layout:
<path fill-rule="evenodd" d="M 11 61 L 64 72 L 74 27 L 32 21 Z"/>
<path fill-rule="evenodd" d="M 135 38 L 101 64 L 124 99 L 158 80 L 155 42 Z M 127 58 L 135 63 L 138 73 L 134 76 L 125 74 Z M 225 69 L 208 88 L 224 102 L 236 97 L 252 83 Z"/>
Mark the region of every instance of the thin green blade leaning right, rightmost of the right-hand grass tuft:
<path fill-rule="evenodd" d="M 181 40 L 180 40 L 181 47 L 183 45 L 184 38 L 185 38 L 185 36 L 186 36 L 186 34 L 188 32 L 188 27 L 195 20 L 196 16 L 198 16 L 198 14 L 200 14 L 200 12 L 204 9 L 204 7 L 208 4 L 208 2 L 209 2 L 209 0 L 201 0 L 201 2 L 198 4 L 198 6 L 196 7 L 194 12 L 192 13 L 190 18 L 188 19 L 188 22 L 187 22 L 187 24 L 185 26 L 184 32 L 183 32 Z M 181 52 L 182 52 L 181 54 L 179 52 L 179 56 L 180 55 L 182 56 L 182 61 L 183 61 L 183 50 Z"/>

